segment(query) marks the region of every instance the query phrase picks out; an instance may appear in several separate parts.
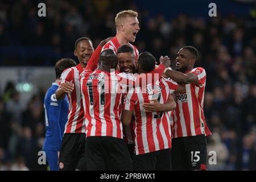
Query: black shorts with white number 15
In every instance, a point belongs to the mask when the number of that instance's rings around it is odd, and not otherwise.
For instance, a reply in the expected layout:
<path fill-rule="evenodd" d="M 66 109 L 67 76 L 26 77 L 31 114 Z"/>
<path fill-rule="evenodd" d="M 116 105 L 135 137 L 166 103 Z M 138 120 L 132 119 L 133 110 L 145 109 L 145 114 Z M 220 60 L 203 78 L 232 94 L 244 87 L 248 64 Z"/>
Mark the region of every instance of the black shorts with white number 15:
<path fill-rule="evenodd" d="M 204 135 L 172 139 L 172 170 L 206 170 L 207 139 Z"/>

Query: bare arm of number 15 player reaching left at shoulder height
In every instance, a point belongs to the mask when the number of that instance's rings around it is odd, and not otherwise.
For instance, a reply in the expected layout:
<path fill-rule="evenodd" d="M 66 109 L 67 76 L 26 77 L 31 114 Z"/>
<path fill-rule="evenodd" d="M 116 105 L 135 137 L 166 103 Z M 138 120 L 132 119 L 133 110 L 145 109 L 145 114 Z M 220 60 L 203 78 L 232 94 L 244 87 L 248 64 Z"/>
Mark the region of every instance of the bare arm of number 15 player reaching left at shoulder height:
<path fill-rule="evenodd" d="M 194 73 L 184 74 L 168 69 L 164 74 L 180 84 L 192 84 L 198 81 L 198 77 Z"/>

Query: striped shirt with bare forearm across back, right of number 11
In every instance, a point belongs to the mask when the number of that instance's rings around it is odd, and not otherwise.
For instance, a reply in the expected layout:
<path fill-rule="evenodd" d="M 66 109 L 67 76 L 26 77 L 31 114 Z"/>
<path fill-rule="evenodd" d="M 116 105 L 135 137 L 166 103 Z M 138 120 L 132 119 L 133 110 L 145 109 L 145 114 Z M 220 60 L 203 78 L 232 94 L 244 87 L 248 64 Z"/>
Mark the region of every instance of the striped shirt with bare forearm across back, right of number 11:
<path fill-rule="evenodd" d="M 133 92 L 126 94 L 123 109 L 135 112 L 136 155 L 171 148 L 171 124 L 168 113 L 146 113 L 141 106 L 152 99 L 158 99 L 160 104 L 166 103 L 170 94 L 177 89 L 177 83 L 160 78 L 155 83 L 147 84 L 146 88 L 130 89 Z"/>

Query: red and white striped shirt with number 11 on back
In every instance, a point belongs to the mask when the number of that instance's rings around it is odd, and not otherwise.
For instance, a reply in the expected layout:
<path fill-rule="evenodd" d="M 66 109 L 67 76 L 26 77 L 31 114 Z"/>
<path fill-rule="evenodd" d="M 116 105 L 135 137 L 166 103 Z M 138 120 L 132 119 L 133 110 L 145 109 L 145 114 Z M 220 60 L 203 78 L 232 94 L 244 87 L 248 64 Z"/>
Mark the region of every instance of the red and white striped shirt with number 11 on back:
<path fill-rule="evenodd" d="M 131 76 L 131 77 L 130 77 Z M 133 74 L 105 72 L 102 70 L 81 73 L 82 103 L 85 108 L 86 137 L 108 136 L 123 138 L 120 121 L 123 92 L 128 78 L 133 85 Z"/>

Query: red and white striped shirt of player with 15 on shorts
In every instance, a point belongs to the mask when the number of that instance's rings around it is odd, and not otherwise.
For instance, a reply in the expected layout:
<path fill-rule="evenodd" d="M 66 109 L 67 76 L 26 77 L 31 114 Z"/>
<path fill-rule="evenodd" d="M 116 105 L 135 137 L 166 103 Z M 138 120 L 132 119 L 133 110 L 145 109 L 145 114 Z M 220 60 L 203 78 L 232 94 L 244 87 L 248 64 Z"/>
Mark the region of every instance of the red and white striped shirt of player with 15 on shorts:
<path fill-rule="evenodd" d="M 205 122 L 203 106 L 206 73 L 201 67 L 192 69 L 191 73 L 197 75 L 197 84 L 186 84 L 185 93 L 174 94 L 176 109 L 172 112 L 172 138 L 211 134 Z"/>

